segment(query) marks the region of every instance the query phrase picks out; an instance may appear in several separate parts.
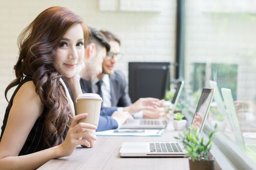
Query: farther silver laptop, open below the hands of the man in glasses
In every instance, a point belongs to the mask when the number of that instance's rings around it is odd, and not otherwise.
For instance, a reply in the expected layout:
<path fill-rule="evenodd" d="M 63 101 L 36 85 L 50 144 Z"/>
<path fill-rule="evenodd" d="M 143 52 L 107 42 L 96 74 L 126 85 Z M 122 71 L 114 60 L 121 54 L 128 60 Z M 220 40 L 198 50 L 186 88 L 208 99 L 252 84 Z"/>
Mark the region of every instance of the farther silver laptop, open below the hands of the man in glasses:
<path fill-rule="evenodd" d="M 176 92 L 172 100 L 173 108 L 177 105 L 183 85 L 183 81 L 177 83 Z M 122 124 L 120 129 L 164 129 L 167 124 L 167 119 L 134 119 Z"/>

